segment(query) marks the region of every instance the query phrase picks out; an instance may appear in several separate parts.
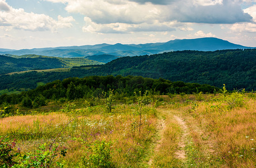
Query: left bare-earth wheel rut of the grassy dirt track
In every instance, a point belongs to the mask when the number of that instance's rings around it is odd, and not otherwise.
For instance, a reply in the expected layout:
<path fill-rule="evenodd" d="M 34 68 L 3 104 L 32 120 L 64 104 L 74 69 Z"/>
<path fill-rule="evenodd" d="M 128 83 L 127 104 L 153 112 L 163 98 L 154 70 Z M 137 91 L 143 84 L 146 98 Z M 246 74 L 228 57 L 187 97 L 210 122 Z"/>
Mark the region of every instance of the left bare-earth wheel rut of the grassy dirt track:
<path fill-rule="evenodd" d="M 159 151 L 159 148 L 161 147 L 161 144 L 162 144 L 162 139 L 163 139 L 163 133 L 164 133 L 164 129 L 166 128 L 166 122 L 164 119 L 160 119 L 158 124 L 157 124 L 157 132 L 159 133 L 159 139 L 157 140 L 157 145 L 156 147 L 154 148 L 154 152 L 157 152 Z M 153 163 L 153 159 L 154 159 L 154 156 L 152 156 L 149 161 L 148 161 L 148 165 L 151 166 L 152 163 Z"/>

